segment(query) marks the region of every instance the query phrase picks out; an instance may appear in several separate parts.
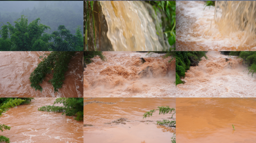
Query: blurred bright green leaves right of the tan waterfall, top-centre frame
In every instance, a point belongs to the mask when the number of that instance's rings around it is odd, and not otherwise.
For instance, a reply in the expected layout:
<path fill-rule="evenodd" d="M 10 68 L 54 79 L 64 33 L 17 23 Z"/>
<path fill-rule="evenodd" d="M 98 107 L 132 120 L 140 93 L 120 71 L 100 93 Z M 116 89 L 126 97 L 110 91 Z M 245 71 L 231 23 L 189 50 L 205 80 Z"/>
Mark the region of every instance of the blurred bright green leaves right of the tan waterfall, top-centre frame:
<path fill-rule="evenodd" d="M 176 42 L 176 1 L 147 1 L 152 4 L 155 12 L 160 12 L 162 16 L 161 28 L 167 36 L 170 45 L 175 46 Z M 156 27 L 157 29 L 157 27 Z M 161 35 L 157 33 L 158 35 Z M 174 48 L 175 50 L 175 48 Z"/>

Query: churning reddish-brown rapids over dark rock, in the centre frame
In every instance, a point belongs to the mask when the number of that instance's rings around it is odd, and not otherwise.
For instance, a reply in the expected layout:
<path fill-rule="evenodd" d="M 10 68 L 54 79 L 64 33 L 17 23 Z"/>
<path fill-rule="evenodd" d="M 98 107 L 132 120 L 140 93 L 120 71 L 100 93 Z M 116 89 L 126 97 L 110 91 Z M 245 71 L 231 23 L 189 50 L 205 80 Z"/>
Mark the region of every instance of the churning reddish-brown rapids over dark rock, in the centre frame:
<path fill-rule="evenodd" d="M 175 60 L 165 54 L 103 52 L 83 73 L 84 97 L 175 97 Z M 140 58 L 144 58 L 140 60 Z"/>

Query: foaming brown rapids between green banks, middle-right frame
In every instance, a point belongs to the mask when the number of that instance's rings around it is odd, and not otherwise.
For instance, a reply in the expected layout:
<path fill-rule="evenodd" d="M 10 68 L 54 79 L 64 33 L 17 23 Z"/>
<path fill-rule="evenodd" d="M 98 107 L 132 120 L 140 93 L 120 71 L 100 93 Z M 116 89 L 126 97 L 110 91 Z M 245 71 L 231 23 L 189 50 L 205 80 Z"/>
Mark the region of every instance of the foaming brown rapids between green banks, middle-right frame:
<path fill-rule="evenodd" d="M 177 97 L 255 97 L 255 75 L 247 74 L 243 59 L 219 51 L 202 57 L 199 66 L 185 73 L 185 84 L 177 85 Z M 227 58 L 227 60 L 226 60 Z"/>

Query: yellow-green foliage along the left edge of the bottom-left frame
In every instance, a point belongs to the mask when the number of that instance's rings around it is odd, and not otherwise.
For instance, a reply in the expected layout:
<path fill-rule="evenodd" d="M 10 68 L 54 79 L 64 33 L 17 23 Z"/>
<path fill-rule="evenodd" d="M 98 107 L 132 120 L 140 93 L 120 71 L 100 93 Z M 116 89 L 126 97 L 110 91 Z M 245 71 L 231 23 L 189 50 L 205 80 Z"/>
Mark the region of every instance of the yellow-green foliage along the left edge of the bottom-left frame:
<path fill-rule="evenodd" d="M 1 98 L 0 98 L 1 99 Z M 3 113 L 5 113 L 6 111 L 9 110 L 9 108 L 11 107 L 15 107 L 18 106 L 19 104 L 21 104 L 22 102 L 24 102 L 25 100 L 22 99 L 17 99 L 15 98 L 10 99 L 8 102 L 3 103 L 0 105 L 0 117 L 3 115 Z M 4 124 L 0 124 L 0 130 L 3 131 L 4 130 L 10 130 L 11 127 L 4 125 Z M 5 137 L 5 136 L 0 136 L 0 142 L 6 142 L 6 143 L 10 143 L 9 138 Z"/>

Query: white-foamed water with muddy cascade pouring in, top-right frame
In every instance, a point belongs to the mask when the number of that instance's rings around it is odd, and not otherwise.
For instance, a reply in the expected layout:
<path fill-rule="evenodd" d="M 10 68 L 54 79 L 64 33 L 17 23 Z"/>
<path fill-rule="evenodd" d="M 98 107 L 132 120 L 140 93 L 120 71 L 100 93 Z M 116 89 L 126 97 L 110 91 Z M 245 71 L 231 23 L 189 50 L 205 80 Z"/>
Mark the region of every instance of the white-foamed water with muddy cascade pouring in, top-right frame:
<path fill-rule="evenodd" d="M 176 2 L 177 51 L 256 50 L 256 1 Z M 204 9 L 205 7 L 205 9 Z"/>

